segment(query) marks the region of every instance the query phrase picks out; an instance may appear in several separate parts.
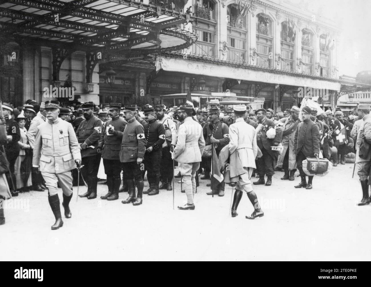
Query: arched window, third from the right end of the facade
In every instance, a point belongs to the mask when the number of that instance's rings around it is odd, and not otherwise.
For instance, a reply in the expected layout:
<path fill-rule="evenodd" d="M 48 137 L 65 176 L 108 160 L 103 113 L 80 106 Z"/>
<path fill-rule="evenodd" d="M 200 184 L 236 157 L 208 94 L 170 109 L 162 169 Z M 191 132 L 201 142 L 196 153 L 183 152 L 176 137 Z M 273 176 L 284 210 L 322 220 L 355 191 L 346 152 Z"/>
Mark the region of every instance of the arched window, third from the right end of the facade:
<path fill-rule="evenodd" d="M 281 23 L 281 69 L 293 71 L 295 59 L 295 37 L 293 20 Z"/>

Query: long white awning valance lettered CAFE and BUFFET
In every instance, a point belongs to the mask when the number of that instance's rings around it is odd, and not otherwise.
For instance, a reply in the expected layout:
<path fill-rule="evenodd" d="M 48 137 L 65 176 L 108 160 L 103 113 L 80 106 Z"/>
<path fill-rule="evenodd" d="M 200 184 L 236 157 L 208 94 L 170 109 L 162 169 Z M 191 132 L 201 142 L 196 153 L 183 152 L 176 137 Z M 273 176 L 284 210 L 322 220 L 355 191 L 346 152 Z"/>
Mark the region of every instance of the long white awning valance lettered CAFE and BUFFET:
<path fill-rule="evenodd" d="M 340 90 L 340 83 L 325 79 L 312 79 L 305 76 L 275 74 L 273 72 L 255 71 L 210 63 L 193 62 L 178 58 L 157 56 L 156 71 L 163 69 L 169 72 L 183 72 L 196 75 L 215 76 L 220 78 L 239 79 L 244 81 L 265 82 L 270 84 L 311 87 L 314 89 Z"/>

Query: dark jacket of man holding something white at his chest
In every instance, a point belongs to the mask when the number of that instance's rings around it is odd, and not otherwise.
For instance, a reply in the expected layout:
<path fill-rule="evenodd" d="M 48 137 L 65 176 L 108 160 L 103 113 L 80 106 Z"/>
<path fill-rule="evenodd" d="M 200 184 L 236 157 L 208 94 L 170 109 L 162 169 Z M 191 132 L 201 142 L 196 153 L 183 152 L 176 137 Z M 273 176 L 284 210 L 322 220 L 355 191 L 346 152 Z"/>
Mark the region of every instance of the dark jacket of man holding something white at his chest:
<path fill-rule="evenodd" d="M 108 121 L 105 122 L 101 138 L 99 139 L 98 143 L 98 147 L 103 147 L 103 159 L 119 160 L 122 134 L 124 133 L 127 124 L 128 122 L 120 116 L 110 118 Z M 112 127 L 114 127 L 114 130 L 117 131 L 116 136 L 114 136 L 113 134 L 111 136 L 107 135 L 107 129 L 109 125 L 112 125 Z"/>

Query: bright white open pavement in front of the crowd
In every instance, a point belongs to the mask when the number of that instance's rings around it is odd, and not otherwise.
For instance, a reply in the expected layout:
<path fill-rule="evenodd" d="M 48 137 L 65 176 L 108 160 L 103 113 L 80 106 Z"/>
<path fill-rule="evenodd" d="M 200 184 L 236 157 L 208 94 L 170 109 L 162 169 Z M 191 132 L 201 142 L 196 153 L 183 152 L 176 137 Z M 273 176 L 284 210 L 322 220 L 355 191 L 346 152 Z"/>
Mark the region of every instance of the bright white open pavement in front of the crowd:
<path fill-rule="evenodd" d="M 265 212 L 255 220 L 245 219 L 253 211 L 246 194 L 239 215 L 231 218 L 231 187 L 226 186 L 224 197 L 211 198 L 206 195 L 206 180 L 200 180 L 194 211 L 177 210 L 186 199 L 180 184 L 175 185 L 175 210 L 171 191 L 144 195 L 143 204 L 133 206 L 121 203 L 127 193 L 120 193 L 116 201 L 99 199 L 107 190 L 99 185 L 96 199 L 76 202 L 75 193 L 72 218 L 63 216 L 63 227 L 52 231 L 54 216 L 47 193 L 22 193 L 17 199 L 29 199 L 29 211 L 5 210 L 1 258 L 369 260 L 371 206 L 356 206 L 361 190 L 357 173 L 351 178 L 352 169 L 353 164 L 339 164 L 327 176 L 315 177 L 312 190 L 295 189 L 299 177 L 283 181 L 279 179 L 283 173 L 276 172 L 272 186 L 255 187 Z M 80 187 L 80 193 L 85 189 Z"/>

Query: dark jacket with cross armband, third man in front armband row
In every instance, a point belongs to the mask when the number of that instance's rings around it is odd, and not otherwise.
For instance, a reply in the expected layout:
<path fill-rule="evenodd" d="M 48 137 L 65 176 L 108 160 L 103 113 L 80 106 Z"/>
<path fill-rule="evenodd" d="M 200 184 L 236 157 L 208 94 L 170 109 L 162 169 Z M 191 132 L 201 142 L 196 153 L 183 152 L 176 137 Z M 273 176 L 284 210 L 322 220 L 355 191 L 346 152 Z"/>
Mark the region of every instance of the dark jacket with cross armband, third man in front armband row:
<path fill-rule="evenodd" d="M 137 157 L 143 158 L 146 145 L 144 127 L 135 118 L 128 120 L 122 133 L 120 162 L 136 162 Z"/>

